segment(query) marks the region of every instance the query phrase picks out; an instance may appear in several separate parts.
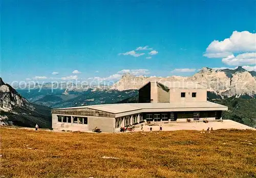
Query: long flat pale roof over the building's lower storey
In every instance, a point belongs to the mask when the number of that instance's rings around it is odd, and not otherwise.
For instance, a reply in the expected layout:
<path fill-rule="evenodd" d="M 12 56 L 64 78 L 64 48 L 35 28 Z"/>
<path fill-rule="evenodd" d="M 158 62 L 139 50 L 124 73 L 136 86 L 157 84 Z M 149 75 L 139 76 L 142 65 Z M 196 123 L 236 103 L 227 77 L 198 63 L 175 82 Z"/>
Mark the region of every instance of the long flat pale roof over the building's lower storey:
<path fill-rule="evenodd" d="M 59 108 L 52 110 L 70 110 L 70 109 L 93 109 L 109 112 L 113 114 L 127 113 L 141 110 L 141 112 L 166 112 L 169 111 L 197 111 L 199 110 L 227 110 L 226 106 L 211 103 L 209 101 L 197 102 L 173 102 L 173 103 L 131 103 L 131 104 L 108 104 L 92 105 L 73 108 Z"/>

